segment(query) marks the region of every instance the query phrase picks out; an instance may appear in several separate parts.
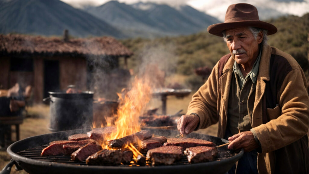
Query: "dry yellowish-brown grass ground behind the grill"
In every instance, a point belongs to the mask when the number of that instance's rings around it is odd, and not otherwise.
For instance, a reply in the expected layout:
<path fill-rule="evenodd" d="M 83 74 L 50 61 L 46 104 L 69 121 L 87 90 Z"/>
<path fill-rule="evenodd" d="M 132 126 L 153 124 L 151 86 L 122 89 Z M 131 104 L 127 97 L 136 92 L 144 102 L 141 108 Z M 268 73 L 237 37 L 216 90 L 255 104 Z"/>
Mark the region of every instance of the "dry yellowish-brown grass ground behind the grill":
<path fill-rule="evenodd" d="M 183 110 L 181 113 L 185 114 L 188 104 L 191 100 L 191 95 L 182 99 L 174 96 L 168 96 L 167 98 L 167 114 L 175 114 L 179 110 Z M 153 98 L 149 106 L 152 108 L 159 108 L 158 113 L 161 113 L 162 102 L 159 98 Z M 35 135 L 42 135 L 51 133 L 48 130 L 49 125 L 49 106 L 48 105 L 35 105 L 27 108 L 29 117 L 26 117 L 23 124 L 20 125 L 20 139 L 32 137 Z M 15 126 L 12 126 L 15 129 Z M 199 130 L 198 133 L 217 135 L 217 125 L 210 126 L 207 129 Z M 15 133 L 12 134 L 12 139 L 15 139 Z M 4 149 L 0 151 L 0 169 L 8 164 L 11 160 L 10 155 L 6 153 Z M 23 174 L 27 173 L 24 170 L 16 171 L 14 167 L 11 170 L 11 174 Z"/>

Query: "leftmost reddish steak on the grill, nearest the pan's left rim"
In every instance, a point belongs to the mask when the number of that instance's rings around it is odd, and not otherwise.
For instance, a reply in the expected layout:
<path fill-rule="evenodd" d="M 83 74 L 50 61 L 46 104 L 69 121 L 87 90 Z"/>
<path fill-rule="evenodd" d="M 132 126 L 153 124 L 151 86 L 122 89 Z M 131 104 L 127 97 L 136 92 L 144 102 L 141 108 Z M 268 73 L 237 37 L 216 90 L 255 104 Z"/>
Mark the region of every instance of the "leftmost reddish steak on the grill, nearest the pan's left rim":
<path fill-rule="evenodd" d="M 68 141 L 68 140 L 59 140 L 59 141 L 53 141 L 49 143 L 48 147 L 45 147 L 42 152 L 41 156 L 46 156 L 46 155 L 60 155 L 63 154 L 65 155 L 67 152 L 63 148 L 63 145 L 67 144 L 79 144 L 79 145 L 86 145 L 86 144 L 95 144 L 95 140 L 93 139 L 85 139 L 85 140 L 80 140 L 80 141 Z"/>

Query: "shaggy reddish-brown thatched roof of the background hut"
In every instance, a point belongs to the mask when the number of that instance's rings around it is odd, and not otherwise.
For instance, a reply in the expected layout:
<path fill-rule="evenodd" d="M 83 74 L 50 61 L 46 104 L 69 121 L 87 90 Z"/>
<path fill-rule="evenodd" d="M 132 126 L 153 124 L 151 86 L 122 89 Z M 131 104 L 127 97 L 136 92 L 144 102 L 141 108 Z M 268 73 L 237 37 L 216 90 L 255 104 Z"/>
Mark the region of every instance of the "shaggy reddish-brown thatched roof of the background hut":
<path fill-rule="evenodd" d="M 0 35 L 0 55 L 94 55 L 131 56 L 128 48 L 112 37 L 64 40 L 56 37 L 42 37 L 19 34 Z"/>

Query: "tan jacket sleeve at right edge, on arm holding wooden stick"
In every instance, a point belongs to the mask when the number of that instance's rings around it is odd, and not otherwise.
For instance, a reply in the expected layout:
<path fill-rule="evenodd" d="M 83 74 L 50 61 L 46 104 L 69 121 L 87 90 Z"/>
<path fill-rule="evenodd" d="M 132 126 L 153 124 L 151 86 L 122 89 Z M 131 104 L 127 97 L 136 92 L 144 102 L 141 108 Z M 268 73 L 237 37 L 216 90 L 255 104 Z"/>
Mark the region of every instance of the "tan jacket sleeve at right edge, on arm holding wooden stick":
<path fill-rule="evenodd" d="M 267 109 L 270 121 L 253 128 L 262 153 L 289 145 L 307 134 L 309 98 L 307 81 L 299 65 L 285 77 L 277 101 L 276 108 Z"/>

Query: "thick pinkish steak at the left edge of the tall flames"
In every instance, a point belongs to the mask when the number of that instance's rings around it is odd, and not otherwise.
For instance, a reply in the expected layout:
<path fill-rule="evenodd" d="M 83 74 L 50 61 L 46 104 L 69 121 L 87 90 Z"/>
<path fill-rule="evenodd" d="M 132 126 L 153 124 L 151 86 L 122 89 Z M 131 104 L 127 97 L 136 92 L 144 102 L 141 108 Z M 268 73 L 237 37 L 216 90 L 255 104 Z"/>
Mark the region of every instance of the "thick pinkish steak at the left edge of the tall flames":
<path fill-rule="evenodd" d="M 101 127 L 92 129 L 90 132 L 87 132 L 89 138 L 94 139 L 95 141 L 102 144 L 105 140 L 104 137 L 110 135 L 112 132 L 116 132 L 117 128 L 114 126 Z"/>

